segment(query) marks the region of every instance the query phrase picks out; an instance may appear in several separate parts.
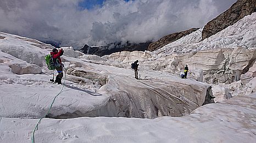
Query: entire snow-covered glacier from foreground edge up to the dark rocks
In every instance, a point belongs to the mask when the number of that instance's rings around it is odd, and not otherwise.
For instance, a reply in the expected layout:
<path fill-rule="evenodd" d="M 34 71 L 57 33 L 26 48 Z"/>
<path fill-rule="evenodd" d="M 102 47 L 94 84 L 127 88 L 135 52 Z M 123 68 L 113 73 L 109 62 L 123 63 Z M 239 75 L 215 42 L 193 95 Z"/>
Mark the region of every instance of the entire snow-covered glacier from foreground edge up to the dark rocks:
<path fill-rule="evenodd" d="M 203 41 L 199 29 L 155 52 L 98 57 L 63 47 L 64 85 L 49 81 L 44 56 L 51 45 L 1 32 L 0 142 L 31 142 L 60 91 L 35 142 L 255 142 L 255 20 L 255 13 L 246 16 Z M 191 58 L 202 62 L 180 79 L 177 69 Z M 136 59 L 141 80 L 130 68 Z M 202 82 L 219 67 L 238 81 Z M 213 96 L 218 103 L 202 106 Z"/>

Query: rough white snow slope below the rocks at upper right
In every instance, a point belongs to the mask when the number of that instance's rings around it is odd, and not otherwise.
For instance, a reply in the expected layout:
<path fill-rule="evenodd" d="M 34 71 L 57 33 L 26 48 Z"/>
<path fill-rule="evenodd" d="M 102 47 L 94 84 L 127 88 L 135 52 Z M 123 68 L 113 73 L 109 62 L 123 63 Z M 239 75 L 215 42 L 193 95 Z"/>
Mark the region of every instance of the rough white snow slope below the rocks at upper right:
<path fill-rule="evenodd" d="M 245 16 L 232 26 L 201 40 L 202 28 L 182 37 L 161 49 L 155 51 L 156 55 L 170 53 L 187 53 L 206 49 L 243 47 L 256 48 L 256 13 Z M 167 50 L 167 51 L 166 51 Z"/>

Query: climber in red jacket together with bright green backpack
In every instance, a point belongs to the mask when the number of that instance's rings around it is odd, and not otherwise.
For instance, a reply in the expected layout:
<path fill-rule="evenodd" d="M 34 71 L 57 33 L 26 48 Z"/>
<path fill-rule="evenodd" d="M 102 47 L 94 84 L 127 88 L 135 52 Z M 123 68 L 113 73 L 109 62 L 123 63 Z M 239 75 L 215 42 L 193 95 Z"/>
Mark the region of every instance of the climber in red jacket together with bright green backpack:
<path fill-rule="evenodd" d="M 47 55 L 45 57 L 48 69 L 50 70 L 56 69 L 58 72 L 58 75 L 55 78 L 55 84 L 62 84 L 64 64 L 62 64 L 62 59 L 60 59 L 60 56 L 63 55 L 63 52 L 64 52 L 63 49 L 60 49 L 58 51 L 57 49 L 54 48 L 52 49 L 52 52 L 50 52 L 50 55 Z M 50 81 L 54 81 L 54 79 Z"/>

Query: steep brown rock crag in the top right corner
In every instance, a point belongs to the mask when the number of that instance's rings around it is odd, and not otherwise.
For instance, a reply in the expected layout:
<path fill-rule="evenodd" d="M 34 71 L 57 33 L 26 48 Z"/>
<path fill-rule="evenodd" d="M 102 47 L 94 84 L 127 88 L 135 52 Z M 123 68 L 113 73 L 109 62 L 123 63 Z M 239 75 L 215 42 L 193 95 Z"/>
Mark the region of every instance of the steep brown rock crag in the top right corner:
<path fill-rule="evenodd" d="M 217 16 L 204 26 L 202 40 L 235 24 L 246 15 L 254 13 L 256 10 L 256 0 L 238 0 L 231 8 Z"/>

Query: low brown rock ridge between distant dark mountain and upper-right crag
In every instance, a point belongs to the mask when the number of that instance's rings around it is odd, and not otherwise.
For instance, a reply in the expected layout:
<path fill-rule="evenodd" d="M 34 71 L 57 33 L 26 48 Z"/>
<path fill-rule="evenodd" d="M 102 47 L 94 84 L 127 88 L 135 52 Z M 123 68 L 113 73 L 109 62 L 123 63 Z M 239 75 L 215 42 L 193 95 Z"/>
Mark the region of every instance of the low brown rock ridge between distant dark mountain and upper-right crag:
<path fill-rule="evenodd" d="M 181 31 L 181 32 L 177 32 L 177 33 L 172 33 L 169 35 L 164 36 L 163 38 L 159 39 L 158 41 L 155 41 L 154 43 L 151 43 L 148 46 L 148 51 L 154 51 L 157 49 L 160 49 L 161 47 L 163 47 L 164 45 L 170 44 L 173 41 L 176 41 L 188 34 L 191 34 L 194 31 L 197 31 L 199 28 L 191 28 L 187 31 Z"/>

